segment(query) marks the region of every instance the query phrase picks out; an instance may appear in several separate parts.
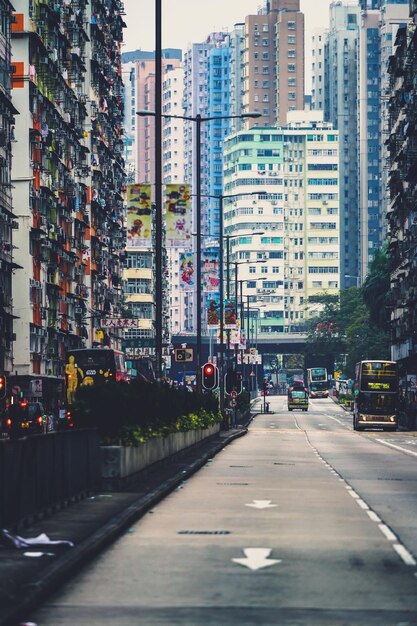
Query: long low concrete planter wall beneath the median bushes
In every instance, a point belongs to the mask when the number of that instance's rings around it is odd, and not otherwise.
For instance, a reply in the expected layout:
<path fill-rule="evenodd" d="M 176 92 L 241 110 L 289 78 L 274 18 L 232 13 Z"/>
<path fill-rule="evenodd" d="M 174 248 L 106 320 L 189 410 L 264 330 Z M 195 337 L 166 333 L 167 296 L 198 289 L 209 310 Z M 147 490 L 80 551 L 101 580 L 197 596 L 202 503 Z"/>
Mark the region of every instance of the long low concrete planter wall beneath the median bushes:
<path fill-rule="evenodd" d="M 204 430 L 171 433 L 137 446 L 101 446 L 101 478 L 106 486 L 120 486 L 129 477 L 154 463 L 169 459 L 220 430 L 220 424 Z"/>

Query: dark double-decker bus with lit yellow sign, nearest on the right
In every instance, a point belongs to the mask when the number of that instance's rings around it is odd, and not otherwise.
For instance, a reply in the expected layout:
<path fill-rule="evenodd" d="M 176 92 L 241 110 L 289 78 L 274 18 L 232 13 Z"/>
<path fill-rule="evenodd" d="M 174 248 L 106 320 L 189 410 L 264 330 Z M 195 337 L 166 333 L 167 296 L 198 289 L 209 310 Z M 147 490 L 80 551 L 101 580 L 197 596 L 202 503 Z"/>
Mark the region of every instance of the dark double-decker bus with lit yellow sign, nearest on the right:
<path fill-rule="evenodd" d="M 360 361 L 353 387 L 353 429 L 398 428 L 398 366 L 395 361 Z"/>

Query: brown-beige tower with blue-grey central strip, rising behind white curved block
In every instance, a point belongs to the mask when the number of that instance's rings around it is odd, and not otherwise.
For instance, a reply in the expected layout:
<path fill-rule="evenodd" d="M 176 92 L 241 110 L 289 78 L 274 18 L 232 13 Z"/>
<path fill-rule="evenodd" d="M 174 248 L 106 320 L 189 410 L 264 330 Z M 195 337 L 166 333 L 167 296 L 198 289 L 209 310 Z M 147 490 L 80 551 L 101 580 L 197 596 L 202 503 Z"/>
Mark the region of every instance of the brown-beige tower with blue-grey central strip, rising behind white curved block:
<path fill-rule="evenodd" d="M 284 126 L 304 108 L 304 14 L 300 0 L 266 0 L 245 19 L 243 112 L 262 113 L 257 125 Z"/>

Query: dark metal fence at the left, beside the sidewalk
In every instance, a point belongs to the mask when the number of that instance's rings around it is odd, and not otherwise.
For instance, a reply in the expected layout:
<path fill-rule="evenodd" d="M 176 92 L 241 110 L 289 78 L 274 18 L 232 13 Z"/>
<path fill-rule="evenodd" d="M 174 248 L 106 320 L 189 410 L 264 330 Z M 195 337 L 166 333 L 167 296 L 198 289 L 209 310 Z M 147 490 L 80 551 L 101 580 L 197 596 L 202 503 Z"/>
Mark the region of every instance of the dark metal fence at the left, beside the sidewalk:
<path fill-rule="evenodd" d="M 22 522 L 100 486 L 94 430 L 0 441 L 0 526 Z"/>

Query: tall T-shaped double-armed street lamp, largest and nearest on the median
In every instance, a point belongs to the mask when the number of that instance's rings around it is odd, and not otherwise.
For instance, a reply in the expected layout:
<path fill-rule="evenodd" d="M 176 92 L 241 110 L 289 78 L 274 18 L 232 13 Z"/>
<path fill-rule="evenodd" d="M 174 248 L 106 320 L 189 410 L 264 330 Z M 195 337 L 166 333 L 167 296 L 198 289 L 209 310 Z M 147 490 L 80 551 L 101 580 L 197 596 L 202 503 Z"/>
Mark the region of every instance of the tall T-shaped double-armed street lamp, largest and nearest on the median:
<path fill-rule="evenodd" d="M 241 115 L 213 115 L 208 117 L 203 117 L 200 113 L 196 116 L 191 115 L 167 115 L 160 113 L 160 110 L 155 113 L 155 111 L 137 111 L 136 115 L 146 117 L 148 115 L 154 117 L 163 117 L 163 118 L 173 118 L 173 119 L 181 119 L 189 122 L 195 122 L 196 124 L 196 235 L 197 235 L 197 243 L 196 243 L 196 264 L 197 264 L 197 279 L 196 279 L 196 315 L 197 315 L 197 345 L 196 345 L 196 357 L 197 357 L 197 391 L 201 391 L 201 367 L 202 367 L 202 350 L 201 350 L 201 124 L 203 122 L 212 122 L 215 120 L 229 120 L 229 119 L 256 119 L 262 117 L 262 113 L 258 112 L 249 112 L 242 113 Z M 155 137 L 155 141 L 157 138 Z M 162 143 L 162 137 L 160 138 L 159 143 Z M 162 172 L 162 163 L 156 164 L 156 167 L 159 165 L 158 169 Z M 161 193 L 162 193 L 162 175 L 161 175 Z M 162 224 L 161 224 L 162 231 Z M 162 240 L 162 235 L 161 235 Z M 162 246 L 161 246 L 162 247 Z M 156 269 L 156 267 L 155 267 Z M 161 266 L 161 275 L 162 275 L 162 266 Z M 162 296 L 162 276 L 161 276 L 161 296 Z M 155 298 L 157 301 L 157 298 Z M 162 318 L 162 315 L 161 315 Z M 162 352 L 162 349 L 161 349 Z"/>

